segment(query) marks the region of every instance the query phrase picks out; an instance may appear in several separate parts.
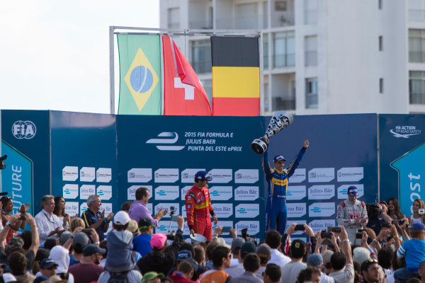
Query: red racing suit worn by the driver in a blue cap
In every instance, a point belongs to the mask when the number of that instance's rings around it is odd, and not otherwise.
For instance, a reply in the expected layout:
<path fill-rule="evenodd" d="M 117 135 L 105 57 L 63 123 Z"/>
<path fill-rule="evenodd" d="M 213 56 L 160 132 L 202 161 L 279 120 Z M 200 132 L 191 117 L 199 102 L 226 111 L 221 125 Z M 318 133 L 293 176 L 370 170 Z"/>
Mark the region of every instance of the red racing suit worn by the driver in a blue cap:
<path fill-rule="evenodd" d="M 207 187 L 200 189 L 193 185 L 186 193 L 186 215 L 189 229 L 203 235 L 208 241 L 212 238 L 211 216 L 214 211 L 211 206 L 210 192 Z"/>

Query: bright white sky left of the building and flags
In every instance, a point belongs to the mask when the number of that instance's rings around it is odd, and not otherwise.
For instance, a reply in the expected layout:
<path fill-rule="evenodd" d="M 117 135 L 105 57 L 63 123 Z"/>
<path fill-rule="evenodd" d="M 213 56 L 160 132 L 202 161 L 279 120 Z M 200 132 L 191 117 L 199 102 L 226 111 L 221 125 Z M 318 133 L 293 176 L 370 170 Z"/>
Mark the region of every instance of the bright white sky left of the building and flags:
<path fill-rule="evenodd" d="M 159 28 L 159 0 L 0 1 L 0 109 L 108 113 L 110 25 Z"/>

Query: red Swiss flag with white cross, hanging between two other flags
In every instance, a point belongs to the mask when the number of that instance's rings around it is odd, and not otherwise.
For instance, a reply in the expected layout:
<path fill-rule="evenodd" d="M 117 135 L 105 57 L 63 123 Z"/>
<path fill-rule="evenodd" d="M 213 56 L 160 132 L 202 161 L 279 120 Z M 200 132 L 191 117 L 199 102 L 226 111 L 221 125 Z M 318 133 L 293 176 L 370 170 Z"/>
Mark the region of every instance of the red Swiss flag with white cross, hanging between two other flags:
<path fill-rule="evenodd" d="M 168 35 L 162 35 L 162 50 L 164 115 L 211 116 L 211 106 L 205 89 L 191 64 Z"/>

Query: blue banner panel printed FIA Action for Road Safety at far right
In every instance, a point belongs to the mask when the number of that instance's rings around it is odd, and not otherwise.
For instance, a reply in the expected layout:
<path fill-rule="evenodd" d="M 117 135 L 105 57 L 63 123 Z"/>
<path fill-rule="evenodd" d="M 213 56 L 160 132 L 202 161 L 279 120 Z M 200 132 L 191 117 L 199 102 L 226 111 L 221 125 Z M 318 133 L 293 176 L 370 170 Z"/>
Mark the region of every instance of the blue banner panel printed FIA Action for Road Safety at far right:
<path fill-rule="evenodd" d="M 379 115 L 380 200 L 397 197 L 406 215 L 425 199 L 424 129 L 424 115 Z"/>

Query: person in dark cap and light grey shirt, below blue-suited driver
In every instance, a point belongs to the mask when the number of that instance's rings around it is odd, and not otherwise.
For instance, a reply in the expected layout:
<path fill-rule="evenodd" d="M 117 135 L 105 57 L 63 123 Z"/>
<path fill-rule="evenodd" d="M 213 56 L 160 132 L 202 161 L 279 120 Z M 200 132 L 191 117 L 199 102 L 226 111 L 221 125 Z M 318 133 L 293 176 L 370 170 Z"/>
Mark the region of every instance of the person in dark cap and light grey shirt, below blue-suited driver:
<path fill-rule="evenodd" d="M 285 275 L 280 278 L 281 283 L 295 283 L 297 282 L 298 273 L 307 268 L 307 265 L 302 262 L 302 258 L 307 252 L 307 244 L 301 240 L 295 240 L 290 245 L 290 262 L 283 265 L 282 274 Z"/>

